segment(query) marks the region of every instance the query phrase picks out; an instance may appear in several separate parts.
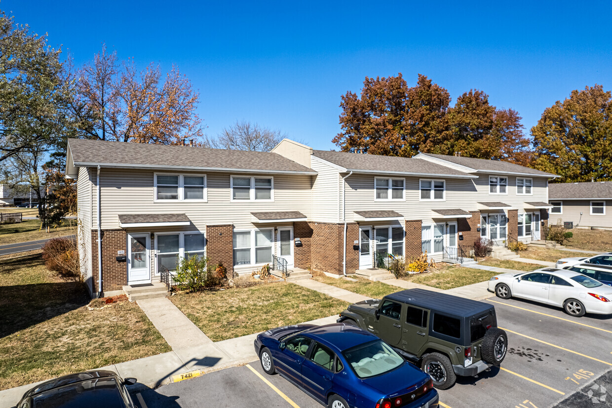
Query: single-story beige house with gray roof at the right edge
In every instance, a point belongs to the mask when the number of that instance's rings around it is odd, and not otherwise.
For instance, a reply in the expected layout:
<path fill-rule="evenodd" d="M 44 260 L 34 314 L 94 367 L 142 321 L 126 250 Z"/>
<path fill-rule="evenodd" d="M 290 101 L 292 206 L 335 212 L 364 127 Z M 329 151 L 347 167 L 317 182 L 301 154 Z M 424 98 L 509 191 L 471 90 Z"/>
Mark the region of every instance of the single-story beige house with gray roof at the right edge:
<path fill-rule="evenodd" d="M 551 225 L 612 229 L 612 181 L 550 184 L 548 200 Z"/>

